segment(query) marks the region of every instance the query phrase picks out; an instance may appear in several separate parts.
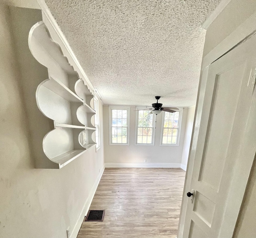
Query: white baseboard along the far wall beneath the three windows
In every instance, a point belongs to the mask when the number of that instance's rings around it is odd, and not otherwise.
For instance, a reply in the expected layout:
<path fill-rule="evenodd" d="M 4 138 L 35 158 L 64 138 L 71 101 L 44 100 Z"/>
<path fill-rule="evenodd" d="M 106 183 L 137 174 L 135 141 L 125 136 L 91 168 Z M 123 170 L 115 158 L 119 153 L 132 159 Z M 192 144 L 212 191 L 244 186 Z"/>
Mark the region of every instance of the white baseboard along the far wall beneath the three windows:
<path fill-rule="evenodd" d="M 180 163 L 105 163 L 105 168 L 180 168 Z"/>

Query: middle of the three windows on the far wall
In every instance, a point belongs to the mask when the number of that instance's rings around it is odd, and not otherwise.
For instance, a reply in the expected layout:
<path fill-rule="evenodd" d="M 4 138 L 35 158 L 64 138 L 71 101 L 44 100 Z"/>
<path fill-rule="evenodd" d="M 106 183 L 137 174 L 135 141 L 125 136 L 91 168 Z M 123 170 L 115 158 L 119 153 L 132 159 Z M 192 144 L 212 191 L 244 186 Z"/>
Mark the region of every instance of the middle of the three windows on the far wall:
<path fill-rule="evenodd" d="M 140 109 L 140 108 L 138 108 Z M 136 126 L 136 144 L 137 145 L 154 145 L 155 132 L 155 114 L 150 114 L 151 110 L 137 111 Z"/>

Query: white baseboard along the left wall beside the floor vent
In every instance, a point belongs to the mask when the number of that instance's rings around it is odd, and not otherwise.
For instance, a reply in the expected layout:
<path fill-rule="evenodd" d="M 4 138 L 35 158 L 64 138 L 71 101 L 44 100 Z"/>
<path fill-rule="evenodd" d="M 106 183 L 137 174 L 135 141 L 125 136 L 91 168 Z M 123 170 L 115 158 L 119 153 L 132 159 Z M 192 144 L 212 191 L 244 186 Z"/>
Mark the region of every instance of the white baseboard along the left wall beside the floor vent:
<path fill-rule="evenodd" d="M 87 214 L 87 212 L 88 212 L 88 210 L 90 208 L 90 205 L 92 203 L 92 199 L 94 197 L 94 194 L 96 192 L 96 189 L 97 189 L 98 184 L 100 182 L 100 179 L 102 177 L 104 169 L 105 169 L 105 166 L 103 165 L 103 167 L 101 168 L 100 173 L 99 173 L 99 175 L 98 175 L 98 177 L 97 177 L 97 179 L 96 179 L 96 181 L 95 181 L 95 183 L 94 183 L 94 185 L 93 185 L 93 187 L 92 187 L 92 189 L 90 191 L 90 194 L 89 194 L 88 198 L 86 199 L 86 202 L 84 203 L 84 207 L 83 207 L 83 209 L 82 209 L 82 211 L 81 211 L 81 213 L 79 215 L 79 218 L 78 218 L 78 220 L 76 222 L 76 225 L 74 226 L 74 229 L 72 230 L 72 233 L 70 235 L 71 238 L 76 238 L 77 235 L 78 235 L 78 232 L 80 230 L 80 227 L 82 225 L 84 217 L 86 216 L 86 214 Z"/>

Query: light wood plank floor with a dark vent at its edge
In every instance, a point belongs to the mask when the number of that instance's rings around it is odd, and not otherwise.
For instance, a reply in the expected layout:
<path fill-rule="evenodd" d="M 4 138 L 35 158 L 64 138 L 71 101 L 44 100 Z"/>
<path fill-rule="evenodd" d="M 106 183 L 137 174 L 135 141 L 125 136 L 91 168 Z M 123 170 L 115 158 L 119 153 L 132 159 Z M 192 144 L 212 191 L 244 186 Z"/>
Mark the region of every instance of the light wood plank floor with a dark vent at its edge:
<path fill-rule="evenodd" d="M 83 222 L 78 238 L 176 237 L 185 171 L 106 168 L 90 209 L 103 222 Z"/>

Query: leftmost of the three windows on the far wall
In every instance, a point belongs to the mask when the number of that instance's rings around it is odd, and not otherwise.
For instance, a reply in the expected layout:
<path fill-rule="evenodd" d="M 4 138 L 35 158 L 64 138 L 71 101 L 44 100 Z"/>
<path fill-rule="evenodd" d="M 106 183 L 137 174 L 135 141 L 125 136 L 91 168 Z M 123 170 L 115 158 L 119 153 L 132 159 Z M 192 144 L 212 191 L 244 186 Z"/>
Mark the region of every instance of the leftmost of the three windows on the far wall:
<path fill-rule="evenodd" d="M 129 144 L 129 112 L 130 107 L 109 108 L 110 114 L 110 145 Z"/>

